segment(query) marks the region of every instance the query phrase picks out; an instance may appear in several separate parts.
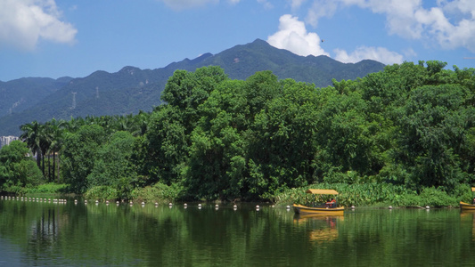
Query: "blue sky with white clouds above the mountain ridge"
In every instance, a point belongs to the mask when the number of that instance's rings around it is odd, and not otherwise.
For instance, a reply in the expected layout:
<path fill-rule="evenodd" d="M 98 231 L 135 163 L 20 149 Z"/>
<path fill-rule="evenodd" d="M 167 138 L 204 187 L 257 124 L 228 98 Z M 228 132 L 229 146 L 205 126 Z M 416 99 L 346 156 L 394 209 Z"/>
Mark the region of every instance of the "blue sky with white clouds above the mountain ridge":
<path fill-rule="evenodd" d="M 256 39 L 341 62 L 475 68 L 475 1 L 0 0 L 0 81 L 158 69 Z"/>

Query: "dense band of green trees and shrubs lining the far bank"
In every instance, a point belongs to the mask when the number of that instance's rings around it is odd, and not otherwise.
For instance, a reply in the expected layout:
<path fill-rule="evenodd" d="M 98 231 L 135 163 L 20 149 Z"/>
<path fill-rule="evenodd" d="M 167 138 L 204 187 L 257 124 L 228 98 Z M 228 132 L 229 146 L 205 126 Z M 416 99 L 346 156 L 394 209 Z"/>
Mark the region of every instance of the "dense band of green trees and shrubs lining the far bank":
<path fill-rule="evenodd" d="M 455 206 L 475 182 L 475 69 L 445 67 L 405 62 L 323 88 L 176 70 L 150 113 L 22 125 L 24 142 L 0 150 L 0 185 L 282 204 L 312 186 L 345 206 Z"/>

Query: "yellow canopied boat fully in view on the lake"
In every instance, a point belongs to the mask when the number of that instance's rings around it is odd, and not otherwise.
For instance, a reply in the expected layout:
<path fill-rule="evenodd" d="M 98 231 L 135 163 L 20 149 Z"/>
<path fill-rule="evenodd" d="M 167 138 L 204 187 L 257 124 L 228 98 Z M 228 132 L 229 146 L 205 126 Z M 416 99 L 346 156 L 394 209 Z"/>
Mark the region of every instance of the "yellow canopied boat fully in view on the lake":
<path fill-rule="evenodd" d="M 337 192 L 336 190 L 309 189 L 306 191 L 306 193 L 314 195 L 339 195 L 339 192 Z M 319 206 L 304 206 L 300 204 L 293 204 L 293 210 L 296 214 L 343 215 L 345 207 L 337 206 L 336 202 L 327 202 Z"/>

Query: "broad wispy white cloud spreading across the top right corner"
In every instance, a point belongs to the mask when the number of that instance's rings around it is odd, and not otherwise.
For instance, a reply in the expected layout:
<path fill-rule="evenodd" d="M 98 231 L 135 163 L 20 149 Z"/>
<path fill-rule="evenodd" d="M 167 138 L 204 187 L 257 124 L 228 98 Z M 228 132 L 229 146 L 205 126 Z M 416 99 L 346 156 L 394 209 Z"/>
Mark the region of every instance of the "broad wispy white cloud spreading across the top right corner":
<path fill-rule="evenodd" d="M 314 0 L 307 22 L 316 27 L 320 18 L 357 6 L 385 15 L 391 35 L 435 43 L 444 49 L 465 47 L 475 53 L 475 1 L 438 0 L 431 4 L 434 6 L 425 8 L 422 0 Z"/>

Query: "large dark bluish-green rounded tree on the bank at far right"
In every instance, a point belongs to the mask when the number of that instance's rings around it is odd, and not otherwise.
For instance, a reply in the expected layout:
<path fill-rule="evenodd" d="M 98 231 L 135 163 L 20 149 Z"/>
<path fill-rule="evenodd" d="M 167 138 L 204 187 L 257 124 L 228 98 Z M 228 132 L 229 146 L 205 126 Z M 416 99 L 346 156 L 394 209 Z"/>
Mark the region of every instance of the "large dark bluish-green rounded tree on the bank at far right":
<path fill-rule="evenodd" d="M 473 126 L 473 107 L 464 104 L 467 93 L 461 85 L 426 85 L 414 89 L 400 109 L 394 154 L 411 174 L 409 186 L 454 189 L 463 182 L 457 153 Z"/>

